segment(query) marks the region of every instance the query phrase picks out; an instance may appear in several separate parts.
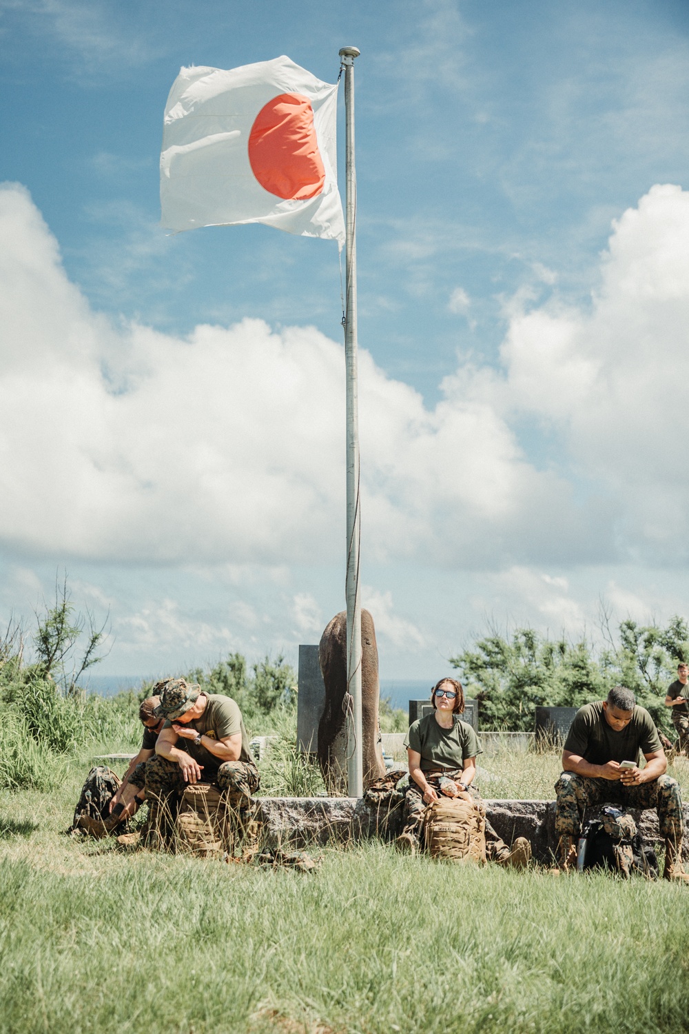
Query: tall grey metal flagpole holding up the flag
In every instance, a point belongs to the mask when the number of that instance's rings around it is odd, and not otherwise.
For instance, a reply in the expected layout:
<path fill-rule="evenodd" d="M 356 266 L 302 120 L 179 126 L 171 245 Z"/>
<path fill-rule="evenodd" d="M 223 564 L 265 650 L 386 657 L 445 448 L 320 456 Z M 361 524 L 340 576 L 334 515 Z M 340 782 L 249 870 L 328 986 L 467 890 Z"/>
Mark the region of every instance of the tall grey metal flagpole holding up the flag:
<path fill-rule="evenodd" d="M 346 192 L 346 310 L 345 369 L 347 378 L 347 783 L 350 797 L 364 795 L 362 738 L 362 599 L 358 581 L 361 510 L 358 494 L 358 393 L 356 385 L 356 172 L 354 169 L 354 58 L 356 47 L 343 47 L 345 69 Z"/>

